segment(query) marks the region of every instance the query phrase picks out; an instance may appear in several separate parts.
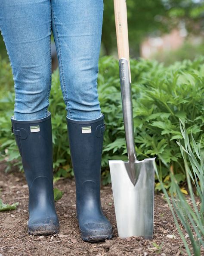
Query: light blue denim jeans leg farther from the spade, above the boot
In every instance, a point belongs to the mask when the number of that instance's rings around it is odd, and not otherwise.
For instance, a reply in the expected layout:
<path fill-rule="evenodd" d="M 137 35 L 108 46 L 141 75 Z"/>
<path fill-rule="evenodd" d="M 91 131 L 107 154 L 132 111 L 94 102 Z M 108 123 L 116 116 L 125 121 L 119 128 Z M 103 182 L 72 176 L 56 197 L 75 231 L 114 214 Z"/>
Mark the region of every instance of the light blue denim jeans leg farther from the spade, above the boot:
<path fill-rule="evenodd" d="M 14 119 L 46 117 L 51 88 L 50 0 L 1 0 L 0 30 L 14 78 Z"/>

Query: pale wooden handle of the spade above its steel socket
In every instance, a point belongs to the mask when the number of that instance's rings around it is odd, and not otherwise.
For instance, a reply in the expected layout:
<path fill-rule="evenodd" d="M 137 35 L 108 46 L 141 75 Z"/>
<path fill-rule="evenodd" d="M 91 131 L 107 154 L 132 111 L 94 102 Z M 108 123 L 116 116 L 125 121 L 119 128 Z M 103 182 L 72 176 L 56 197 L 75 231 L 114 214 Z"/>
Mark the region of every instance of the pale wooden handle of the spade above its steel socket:
<path fill-rule="evenodd" d="M 127 59 L 128 66 L 129 66 L 130 83 L 131 83 L 126 0 L 114 0 L 114 13 L 115 13 L 115 27 L 116 27 L 116 35 L 117 35 L 118 57 L 119 57 L 119 60 L 121 58 Z"/>

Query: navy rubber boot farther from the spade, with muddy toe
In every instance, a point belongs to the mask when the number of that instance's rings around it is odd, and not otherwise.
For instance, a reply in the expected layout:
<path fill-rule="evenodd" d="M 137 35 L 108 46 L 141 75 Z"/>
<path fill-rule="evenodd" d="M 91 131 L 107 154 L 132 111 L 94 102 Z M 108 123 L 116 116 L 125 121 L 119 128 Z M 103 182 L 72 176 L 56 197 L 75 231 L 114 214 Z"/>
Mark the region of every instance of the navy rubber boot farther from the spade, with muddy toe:
<path fill-rule="evenodd" d="M 55 234 L 59 231 L 59 221 L 53 192 L 51 114 L 31 121 L 11 117 L 11 123 L 29 189 L 28 233 Z"/>

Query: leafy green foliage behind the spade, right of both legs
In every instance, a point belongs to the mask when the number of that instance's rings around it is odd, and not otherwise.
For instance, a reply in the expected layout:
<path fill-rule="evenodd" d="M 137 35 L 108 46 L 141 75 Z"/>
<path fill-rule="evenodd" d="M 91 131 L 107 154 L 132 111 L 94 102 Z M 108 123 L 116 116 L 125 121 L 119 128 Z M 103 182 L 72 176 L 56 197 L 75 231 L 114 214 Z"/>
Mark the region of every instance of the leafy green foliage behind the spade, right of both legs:
<path fill-rule="evenodd" d="M 99 65 L 99 101 L 106 132 L 102 166 L 127 160 L 117 61 L 103 57 Z M 204 58 L 164 67 L 156 61 L 132 60 L 132 96 L 136 152 L 139 160 L 157 156 L 161 178 L 174 171 L 185 180 L 184 161 L 176 140 L 182 138 L 179 118 L 201 139 L 204 130 Z M 198 93 L 199 92 L 199 93 Z M 204 146 L 204 140 L 201 141 Z M 105 174 L 104 174 L 105 175 Z M 167 187 L 171 183 L 166 179 Z M 161 190 L 157 183 L 156 189 Z"/>

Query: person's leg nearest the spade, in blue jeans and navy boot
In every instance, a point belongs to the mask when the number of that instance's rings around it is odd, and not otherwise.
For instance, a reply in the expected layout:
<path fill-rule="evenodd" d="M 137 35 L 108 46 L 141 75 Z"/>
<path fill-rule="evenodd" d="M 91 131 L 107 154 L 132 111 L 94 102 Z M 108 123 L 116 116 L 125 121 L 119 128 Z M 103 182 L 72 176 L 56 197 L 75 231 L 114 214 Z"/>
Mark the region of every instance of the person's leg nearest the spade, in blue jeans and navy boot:
<path fill-rule="evenodd" d="M 100 171 L 104 116 L 97 93 L 103 0 L 51 0 L 53 35 L 66 104 L 77 218 L 83 240 L 112 237 L 102 212 Z"/>

